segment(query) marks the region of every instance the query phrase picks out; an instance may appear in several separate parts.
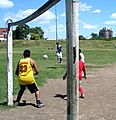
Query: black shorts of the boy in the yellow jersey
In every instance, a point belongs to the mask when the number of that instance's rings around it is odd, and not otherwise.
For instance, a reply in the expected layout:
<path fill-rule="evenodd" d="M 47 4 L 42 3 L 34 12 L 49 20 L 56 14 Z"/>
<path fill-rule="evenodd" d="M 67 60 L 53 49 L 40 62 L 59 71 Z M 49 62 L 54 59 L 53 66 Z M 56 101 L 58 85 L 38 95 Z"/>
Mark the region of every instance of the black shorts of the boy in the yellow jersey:
<path fill-rule="evenodd" d="M 39 90 L 38 87 L 37 87 L 37 85 L 36 85 L 35 83 L 29 84 L 29 85 L 20 85 L 20 88 L 21 88 L 22 90 L 25 90 L 26 87 L 28 88 L 28 90 L 29 90 L 32 94 Z"/>

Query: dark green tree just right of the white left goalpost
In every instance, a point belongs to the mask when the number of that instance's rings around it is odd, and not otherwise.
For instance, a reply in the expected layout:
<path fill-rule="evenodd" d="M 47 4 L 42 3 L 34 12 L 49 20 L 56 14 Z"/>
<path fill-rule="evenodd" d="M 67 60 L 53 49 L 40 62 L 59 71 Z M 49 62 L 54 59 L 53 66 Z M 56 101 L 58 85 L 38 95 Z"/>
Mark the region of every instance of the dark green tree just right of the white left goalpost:
<path fill-rule="evenodd" d="M 13 31 L 14 39 L 26 39 L 27 35 L 30 33 L 30 27 L 26 24 L 20 24 Z"/>

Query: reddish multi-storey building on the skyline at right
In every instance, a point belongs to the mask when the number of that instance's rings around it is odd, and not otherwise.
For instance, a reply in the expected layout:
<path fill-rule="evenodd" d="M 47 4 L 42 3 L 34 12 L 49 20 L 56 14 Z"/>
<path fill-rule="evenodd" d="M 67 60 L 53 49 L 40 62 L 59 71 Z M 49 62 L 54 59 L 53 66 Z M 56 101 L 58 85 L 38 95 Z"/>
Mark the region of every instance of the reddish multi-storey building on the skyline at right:
<path fill-rule="evenodd" d="M 104 38 L 111 38 L 113 37 L 112 29 L 107 29 L 104 27 L 102 30 L 99 31 L 99 36 Z"/>

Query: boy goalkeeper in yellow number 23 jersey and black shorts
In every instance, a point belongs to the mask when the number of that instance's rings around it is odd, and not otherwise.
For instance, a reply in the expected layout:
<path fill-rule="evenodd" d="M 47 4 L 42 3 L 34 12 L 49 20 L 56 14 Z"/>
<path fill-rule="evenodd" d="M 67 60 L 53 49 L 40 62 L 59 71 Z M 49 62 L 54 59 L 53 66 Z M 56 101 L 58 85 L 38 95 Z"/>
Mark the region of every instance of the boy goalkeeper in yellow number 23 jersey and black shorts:
<path fill-rule="evenodd" d="M 35 93 L 37 107 L 41 108 L 44 104 L 40 101 L 40 91 L 34 79 L 34 75 L 39 73 L 36 62 L 30 58 L 30 50 L 25 50 L 23 56 L 24 58 L 18 62 L 15 72 L 18 76 L 18 82 L 20 85 L 16 103 L 19 104 L 27 87 L 32 94 Z"/>

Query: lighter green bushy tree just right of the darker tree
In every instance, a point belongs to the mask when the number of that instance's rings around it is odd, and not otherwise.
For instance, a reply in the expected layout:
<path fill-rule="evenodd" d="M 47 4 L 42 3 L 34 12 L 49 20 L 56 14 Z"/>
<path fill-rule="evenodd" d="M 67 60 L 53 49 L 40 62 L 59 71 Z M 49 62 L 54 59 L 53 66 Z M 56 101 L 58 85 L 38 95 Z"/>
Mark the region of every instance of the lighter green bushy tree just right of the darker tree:
<path fill-rule="evenodd" d="M 30 28 L 30 33 L 31 33 L 31 38 L 34 40 L 43 39 L 44 37 L 44 31 L 41 29 L 41 27 L 35 27 L 35 28 Z"/>

